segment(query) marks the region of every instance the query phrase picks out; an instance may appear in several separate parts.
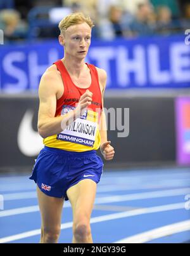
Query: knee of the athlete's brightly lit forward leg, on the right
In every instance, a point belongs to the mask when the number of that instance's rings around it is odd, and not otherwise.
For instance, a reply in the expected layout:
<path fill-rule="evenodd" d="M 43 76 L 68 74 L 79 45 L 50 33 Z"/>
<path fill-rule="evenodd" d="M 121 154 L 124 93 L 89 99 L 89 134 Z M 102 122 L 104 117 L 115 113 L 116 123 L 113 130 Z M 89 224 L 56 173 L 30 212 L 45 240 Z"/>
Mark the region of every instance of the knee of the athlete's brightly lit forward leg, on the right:
<path fill-rule="evenodd" d="M 81 221 L 73 225 L 73 235 L 79 242 L 85 242 L 91 236 L 91 226 L 87 221 Z"/>

